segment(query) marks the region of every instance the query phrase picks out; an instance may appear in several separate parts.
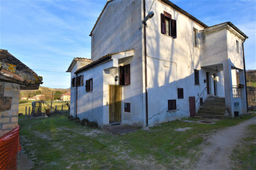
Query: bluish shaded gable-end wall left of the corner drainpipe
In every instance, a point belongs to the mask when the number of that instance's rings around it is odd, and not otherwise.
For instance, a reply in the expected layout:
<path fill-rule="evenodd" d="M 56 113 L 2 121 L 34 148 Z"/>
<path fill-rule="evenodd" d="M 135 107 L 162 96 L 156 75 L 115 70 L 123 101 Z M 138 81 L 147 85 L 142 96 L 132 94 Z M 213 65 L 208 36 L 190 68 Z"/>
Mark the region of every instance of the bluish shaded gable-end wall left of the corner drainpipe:
<path fill-rule="evenodd" d="M 141 0 L 112 1 L 105 8 L 92 35 L 92 60 L 110 53 L 134 50 L 129 60 L 119 61 L 119 65 L 130 64 L 131 85 L 122 86 L 121 119 L 126 124 L 143 126 L 143 56 L 142 56 L 142 2 Z M 106 68 L 106 67 L 105 67 Z M 101 70 L 102 71 L 102 70 Z M 103 123 L 109 124 L 108 100 L 109 84 L 118 84 L 114 77 L 118 68 L 112 68 L 110 74 L 104 74 Z M 124 102 L 131 103 L 131 113 L 125 113 Z"/>

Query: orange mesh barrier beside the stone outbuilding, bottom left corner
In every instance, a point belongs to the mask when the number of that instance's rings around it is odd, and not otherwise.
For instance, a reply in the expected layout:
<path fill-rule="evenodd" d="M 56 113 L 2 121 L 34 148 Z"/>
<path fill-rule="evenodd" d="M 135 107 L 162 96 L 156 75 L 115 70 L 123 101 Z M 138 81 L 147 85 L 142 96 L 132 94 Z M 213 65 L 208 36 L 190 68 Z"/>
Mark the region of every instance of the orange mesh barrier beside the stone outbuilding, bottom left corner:
<path fill-rule="evenodd" d="M 0 138 L 0 169 L 17 169 L 16 156 L 21 150 L 18 125 Z"/>

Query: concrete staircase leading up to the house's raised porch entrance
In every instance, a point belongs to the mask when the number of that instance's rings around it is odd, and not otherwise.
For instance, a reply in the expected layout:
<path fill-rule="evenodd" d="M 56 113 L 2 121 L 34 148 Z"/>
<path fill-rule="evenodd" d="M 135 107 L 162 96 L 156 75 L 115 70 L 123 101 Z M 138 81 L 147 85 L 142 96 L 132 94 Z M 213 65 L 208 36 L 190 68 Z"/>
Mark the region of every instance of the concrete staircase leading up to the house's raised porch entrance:
<path fill-rule="evenodd" d="M 224 118 L 226 113 L 225 98 L 207 98 L 200 106 L 197 116 L 207 118 Z"/>

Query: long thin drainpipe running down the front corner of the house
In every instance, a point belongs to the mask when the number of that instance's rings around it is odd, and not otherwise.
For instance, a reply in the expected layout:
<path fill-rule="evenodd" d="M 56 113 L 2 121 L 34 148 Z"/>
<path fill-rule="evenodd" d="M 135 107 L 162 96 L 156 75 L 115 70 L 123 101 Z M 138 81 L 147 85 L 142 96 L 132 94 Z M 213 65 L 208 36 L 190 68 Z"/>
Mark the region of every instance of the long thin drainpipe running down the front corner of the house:
<path fill-rule="evenodd" d="M 146 17 L 145 0 L 143 0 L 144 18 Z M 147 63 L 146 63 L 146 27 L 144 26 L 144 51 L 145 51 L 145 92 L 146 92 L 146 129 L 148 129 L 148 107 L 147 107 Z"/>

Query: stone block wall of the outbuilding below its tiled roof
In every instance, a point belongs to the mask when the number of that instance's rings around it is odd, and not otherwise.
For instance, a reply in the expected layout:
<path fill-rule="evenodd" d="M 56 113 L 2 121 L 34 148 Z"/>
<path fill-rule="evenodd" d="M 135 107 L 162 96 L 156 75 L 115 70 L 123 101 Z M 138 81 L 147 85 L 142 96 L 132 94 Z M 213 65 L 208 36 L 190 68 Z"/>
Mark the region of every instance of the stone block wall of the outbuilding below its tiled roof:
<path fill-rule="evenodd" d="M 0 137 L 18 125 L 18 84 L 0 82 Z"/>

